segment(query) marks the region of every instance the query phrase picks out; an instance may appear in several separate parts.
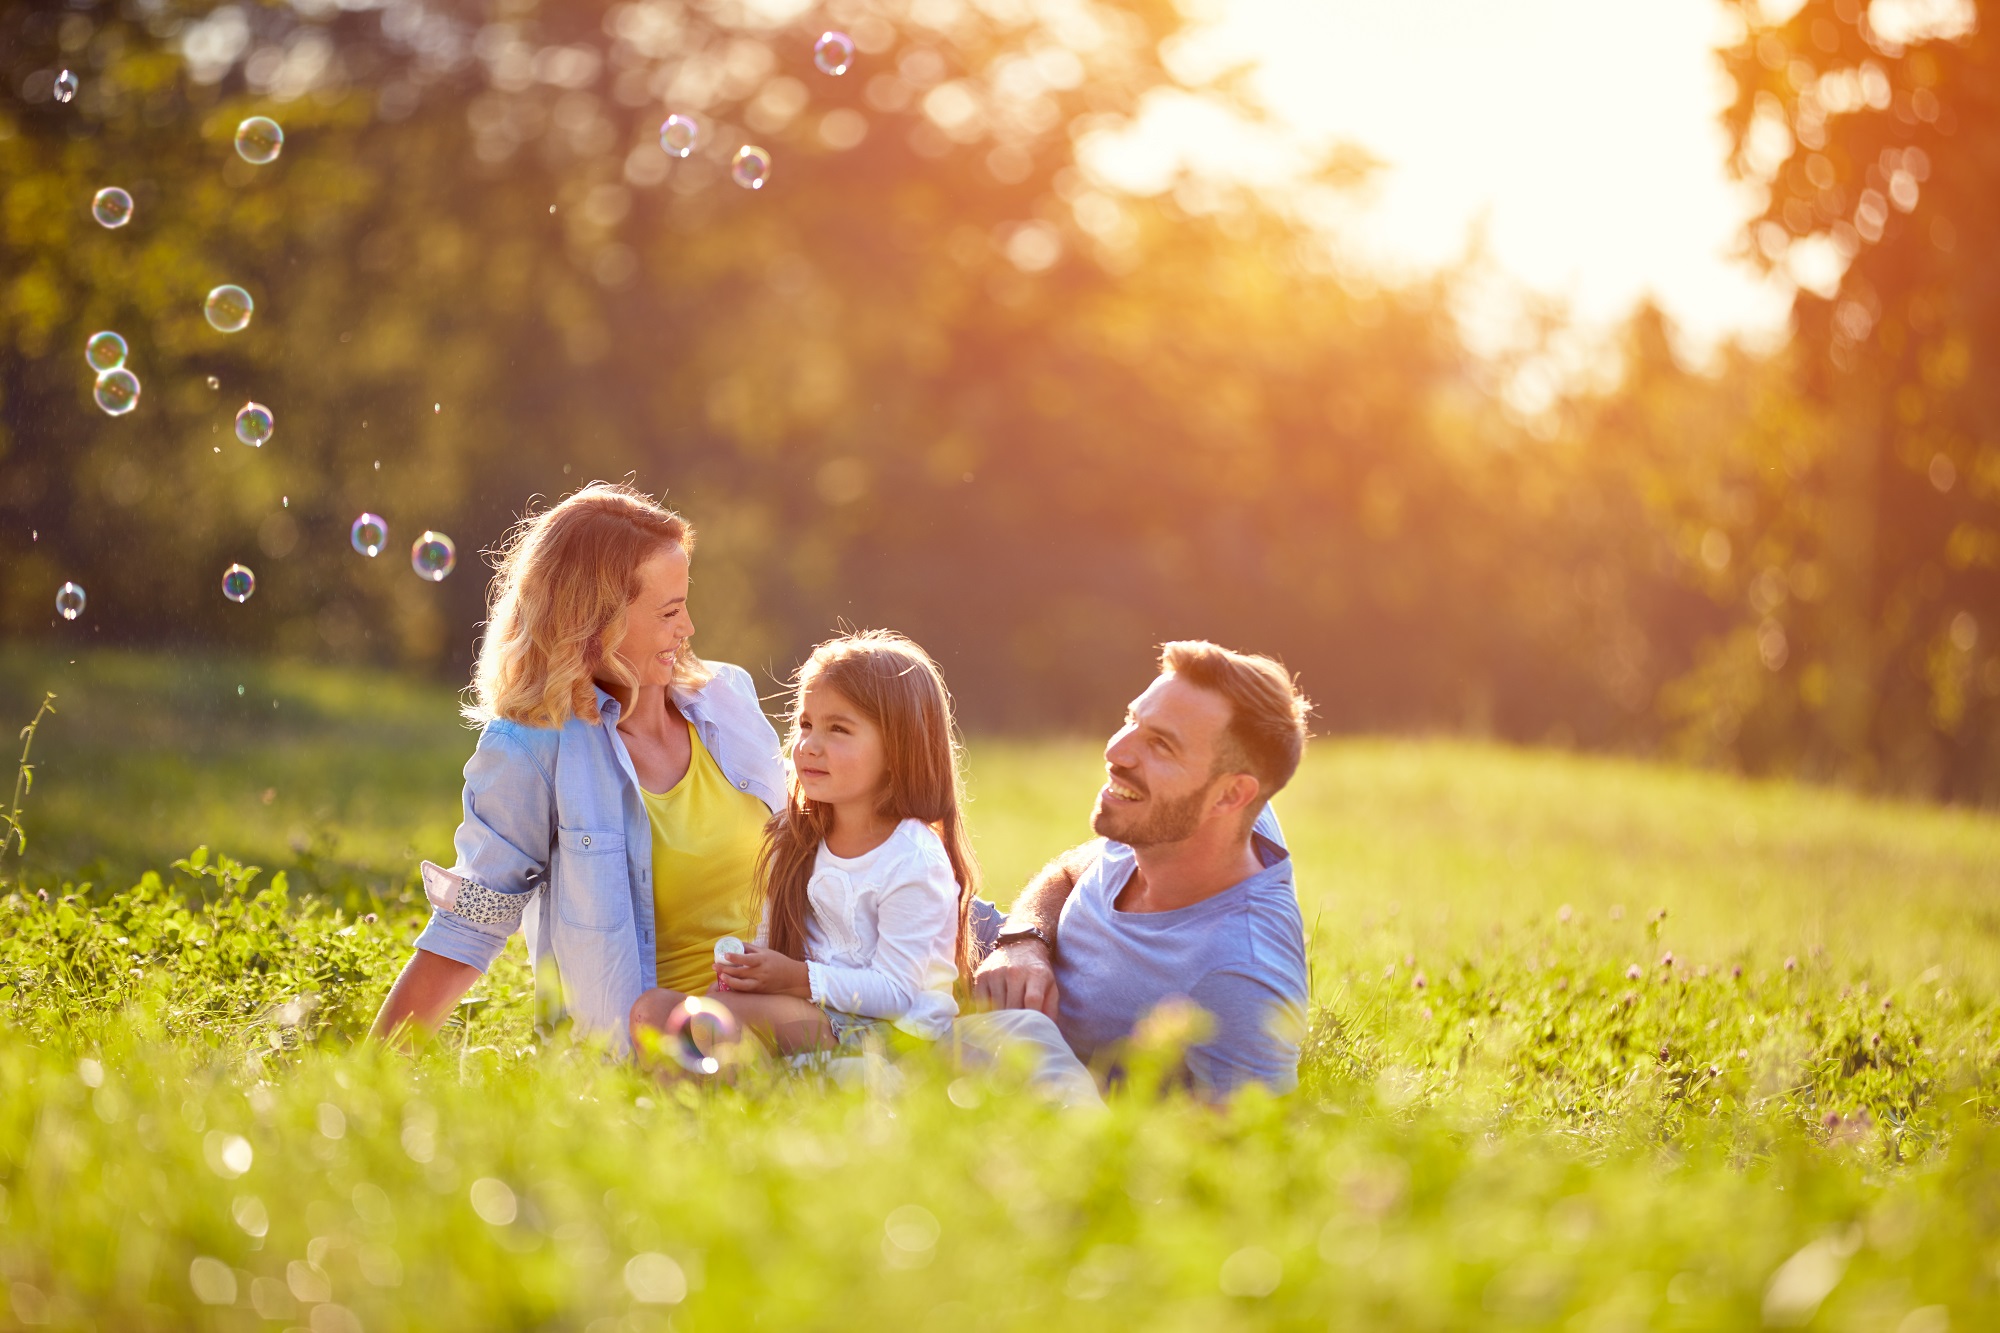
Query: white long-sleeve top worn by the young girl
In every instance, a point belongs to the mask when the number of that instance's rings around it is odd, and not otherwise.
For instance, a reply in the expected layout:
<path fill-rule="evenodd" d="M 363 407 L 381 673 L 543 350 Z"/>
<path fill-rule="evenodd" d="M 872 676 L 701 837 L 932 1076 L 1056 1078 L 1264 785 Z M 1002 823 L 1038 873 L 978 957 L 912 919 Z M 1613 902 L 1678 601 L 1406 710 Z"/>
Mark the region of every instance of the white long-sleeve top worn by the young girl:
<path fill-rule="evenodd" d="M 958 1015 L 958 881 L 938 835 L 906 819 L 860 857 L 820 843 L 806 893 L 812 1003 L 942 1037 Z"/>

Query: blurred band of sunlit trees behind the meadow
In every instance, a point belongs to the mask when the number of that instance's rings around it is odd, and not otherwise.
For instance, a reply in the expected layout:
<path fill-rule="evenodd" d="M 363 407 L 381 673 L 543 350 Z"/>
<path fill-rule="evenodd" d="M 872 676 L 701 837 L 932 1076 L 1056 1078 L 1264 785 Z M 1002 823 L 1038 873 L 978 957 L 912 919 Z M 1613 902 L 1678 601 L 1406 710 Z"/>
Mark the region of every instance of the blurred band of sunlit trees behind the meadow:
<path fill-rule="evenodd" d="M 2000 38 L 1974 8 L 1904 48 L 1856 0 L 1732 6 L 1736 166 L 1770 198 L 1746 246 L 1852 256 L 1840 286 L 1704 372 L 1640 312 L 1618 386 L 1528 430 L 1462 346 L 1460 274 L 1384 284 L 1300 220 L 1366 178 L 1352 154 L 1262 198 L 1076 164 L 1174 86 L 1168 4 L 14 0 L 0 624 L 460 679 L 474 552 L 630 472 L 704 528 L 710 654 L 784 675 L 842 616 L 894 624 L 988 729 L 1094 727 L 1148 644 L 1210 634 L 1284 654 L 1328 729 L 1990 801 Z M 844 78 L 810 66 L 828 24 L 862 42 Z M 708 124 L 686 162 L 668 108 Z M 250 112 L 288 130 L 268 168 L 230 152 Z M 754 194 L 724 176 L 746 138 L 776 154 Z M 118 232 L 86 206 L 112 180 Z M 220 280 L 250 332 L 200 320 Z M 128 418 L 88 404 L 100 326 L 146 384 Z M 228 434 L 246 398 L 262 450 Z M 396 538 L 372 562 L 362 508 Z M 422 528 L 460 544 L 440 586 L 394 554 Z M 246 606 L 214 594 L 232 560 Z"/>

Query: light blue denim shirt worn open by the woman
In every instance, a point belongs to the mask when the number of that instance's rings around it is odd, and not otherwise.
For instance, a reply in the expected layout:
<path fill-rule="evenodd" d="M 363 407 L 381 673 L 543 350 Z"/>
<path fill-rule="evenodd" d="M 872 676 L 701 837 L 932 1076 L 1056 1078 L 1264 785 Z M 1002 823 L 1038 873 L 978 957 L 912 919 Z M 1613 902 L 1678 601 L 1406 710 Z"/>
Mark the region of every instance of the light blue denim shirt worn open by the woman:
<path fill-rule="evenodd" d="M 772 811 L 784 805 L 778 733 L 750 673 L 710 662 L 698 691 L 674 691 L 724 777 Z M 466 761 L 464 821 L 452 867 L 490 893 L 432 905 L 416 947 L 492 967 L 520 929 L 536 991 L 560 977 L 580 1033 L 624 1051 L 626 1015 L 658 983 L 652 919 L 652 821 L 618 735 L 618 701 L 598 691 L 598 723 L 494 721 Z"/>

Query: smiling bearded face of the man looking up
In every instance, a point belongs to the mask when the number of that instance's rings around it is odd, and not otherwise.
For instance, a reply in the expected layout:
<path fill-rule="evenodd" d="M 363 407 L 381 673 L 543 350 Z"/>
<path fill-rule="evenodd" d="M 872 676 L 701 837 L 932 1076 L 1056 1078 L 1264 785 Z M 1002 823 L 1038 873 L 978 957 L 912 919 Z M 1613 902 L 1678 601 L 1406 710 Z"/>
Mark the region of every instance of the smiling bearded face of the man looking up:
<path fill-rule="evenodd" d="M 1226 699 L 1166 673 L 1126 709 L 1104 747 L 1104 789 L 1090 829 L 1128 847 L 1192 837 L 1210 813 L 1216 749 L 1230 723 Z"/>

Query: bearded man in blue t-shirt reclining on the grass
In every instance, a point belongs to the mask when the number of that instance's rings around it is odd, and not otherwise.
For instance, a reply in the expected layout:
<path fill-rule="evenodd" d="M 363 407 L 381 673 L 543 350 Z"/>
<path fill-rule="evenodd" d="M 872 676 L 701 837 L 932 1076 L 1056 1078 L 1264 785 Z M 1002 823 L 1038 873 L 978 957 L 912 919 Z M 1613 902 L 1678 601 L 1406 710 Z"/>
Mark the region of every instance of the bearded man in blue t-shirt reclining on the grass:
<path fill-rule="evenodd" d="M 1106 781 L 1090 813 L 1098 841 L 1022 891 L 974 995 L 1054 1019 L 1076 1057 L 1100 1067 L 1148 1013 L 1192 1001 L 1208 1015 L 1186 1049 L 1196 1091 L 1290 1091 L 1306 939 L 1270 797 L 1298 771 L 1310 707 L 1268 656 L 1166 644 L 1158 679 L 1104 747 Z M 984 1019 L 1042 1047 L 1040 1083 L 1062 1091 L 1064 1057 L 1048 1023 L 1032 1013 Z"/>

